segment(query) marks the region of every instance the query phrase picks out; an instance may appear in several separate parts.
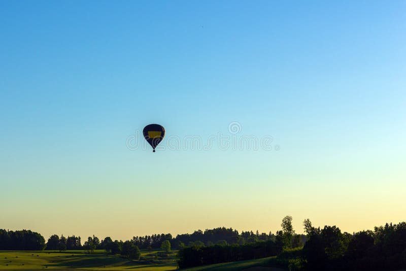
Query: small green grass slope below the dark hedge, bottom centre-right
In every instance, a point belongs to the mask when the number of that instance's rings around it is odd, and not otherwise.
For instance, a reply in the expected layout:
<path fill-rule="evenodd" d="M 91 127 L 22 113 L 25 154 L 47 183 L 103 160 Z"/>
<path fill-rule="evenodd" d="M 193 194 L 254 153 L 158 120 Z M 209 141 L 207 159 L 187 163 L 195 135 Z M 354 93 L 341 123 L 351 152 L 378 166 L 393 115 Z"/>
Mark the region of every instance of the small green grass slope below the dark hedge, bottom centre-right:
<path fill-rule="evenodd" d="M 270 270 L 270 271 L 283 271 L 281 268 L 269 267 L 269 259 L 275 257 L 261 258 L 247 261 L 234 261 L 226 263 L 217 263 L 212 265 L 203 265 L 193 268 L 184 269 L 185 271 L 198 271 L 198 270 L 219 270 L 219 271 L 231 271 L 231 270 Z"/>

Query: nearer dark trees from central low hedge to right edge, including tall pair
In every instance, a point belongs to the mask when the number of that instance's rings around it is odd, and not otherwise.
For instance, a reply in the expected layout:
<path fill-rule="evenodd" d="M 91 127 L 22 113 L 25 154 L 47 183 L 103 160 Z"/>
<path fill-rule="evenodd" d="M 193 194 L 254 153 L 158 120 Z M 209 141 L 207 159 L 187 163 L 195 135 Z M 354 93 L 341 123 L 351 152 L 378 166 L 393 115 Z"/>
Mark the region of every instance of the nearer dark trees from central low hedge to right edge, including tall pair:
<path fill-rule="evenodd" d="M 335 225 L 314 227 L 303 221 L 306 235 L 296 234 L 292 217 L 282 220 L 282 230 L 268 241 L 250 244 L 212 245 L 194 243 L 179 250 L 179 266 L 277 256 L 269 266 L 289 270 L 399 270 L 406 268 L 406 222 L 386 223 L 374 230 L 342 232 Z"/>

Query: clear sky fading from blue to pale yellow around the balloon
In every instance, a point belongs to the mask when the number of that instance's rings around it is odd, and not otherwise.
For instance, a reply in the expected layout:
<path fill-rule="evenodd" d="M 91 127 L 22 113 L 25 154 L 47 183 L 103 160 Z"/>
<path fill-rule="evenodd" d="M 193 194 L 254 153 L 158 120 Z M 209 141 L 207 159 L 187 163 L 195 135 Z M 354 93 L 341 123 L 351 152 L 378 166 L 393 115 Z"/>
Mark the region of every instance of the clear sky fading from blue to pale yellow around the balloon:
<path fill-rule="evenodd" d="M 1 1 L 0 228 L 404 221 L 405 105 L 404 1 Z M 219 133 L 272 150 L 167 148 Z"/>

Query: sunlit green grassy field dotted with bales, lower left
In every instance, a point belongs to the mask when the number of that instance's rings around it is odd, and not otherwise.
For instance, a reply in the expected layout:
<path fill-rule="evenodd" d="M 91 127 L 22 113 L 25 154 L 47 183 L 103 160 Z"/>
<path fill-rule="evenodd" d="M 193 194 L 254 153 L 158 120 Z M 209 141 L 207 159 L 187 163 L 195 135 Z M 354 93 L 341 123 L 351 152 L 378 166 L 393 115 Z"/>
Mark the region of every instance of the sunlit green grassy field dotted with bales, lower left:
<path fill-rule="evenodd" d="M 140 260 L 128 260 L 104 251 L 0 251 L 0 270 L 174 270 L 177 251 L 142 251 Z"/>

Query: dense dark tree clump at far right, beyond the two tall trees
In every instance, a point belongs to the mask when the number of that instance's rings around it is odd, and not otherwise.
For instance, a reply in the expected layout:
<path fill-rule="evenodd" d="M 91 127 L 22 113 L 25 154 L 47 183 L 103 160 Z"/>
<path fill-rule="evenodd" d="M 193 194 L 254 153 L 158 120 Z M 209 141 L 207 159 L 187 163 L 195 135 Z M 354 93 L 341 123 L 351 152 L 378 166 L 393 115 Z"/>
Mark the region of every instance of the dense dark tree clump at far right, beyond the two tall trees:
<path fill-rule="evenodd" d="M 305 221 L 306 222 L 306 221 Z M 305 226 L 309 240 L 297 257 L 303 270 L 398 270 L 406 268 L 406 222 L 352 234 L 336 226 Z"/>

